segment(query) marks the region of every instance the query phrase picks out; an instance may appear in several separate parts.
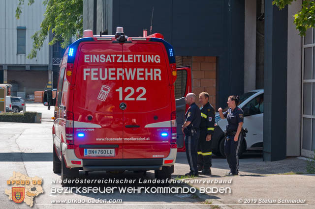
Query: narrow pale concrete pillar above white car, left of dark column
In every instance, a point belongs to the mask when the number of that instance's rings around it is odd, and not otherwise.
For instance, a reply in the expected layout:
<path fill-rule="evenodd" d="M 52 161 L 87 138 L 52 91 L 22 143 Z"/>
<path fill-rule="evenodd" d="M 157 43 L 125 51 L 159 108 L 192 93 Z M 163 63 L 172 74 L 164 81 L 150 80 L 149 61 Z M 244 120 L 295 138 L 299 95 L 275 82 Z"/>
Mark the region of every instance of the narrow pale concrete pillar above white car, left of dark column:
<path fill-rule="evenodd" d="M 244 92 L 256 88 L 256 1 L 245 0 Z"/>

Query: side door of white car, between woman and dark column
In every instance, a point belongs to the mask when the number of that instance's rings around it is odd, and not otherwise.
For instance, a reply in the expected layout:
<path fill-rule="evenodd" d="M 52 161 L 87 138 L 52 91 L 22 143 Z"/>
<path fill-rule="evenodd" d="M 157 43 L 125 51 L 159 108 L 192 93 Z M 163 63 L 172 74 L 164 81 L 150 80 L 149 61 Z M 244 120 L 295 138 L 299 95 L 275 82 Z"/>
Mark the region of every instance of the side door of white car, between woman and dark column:
<path fill-rule="evenodd" d="M 246 134 L 247 149 L 262 148 L 263 142 L 263 93 L 257 95 L 242 107 L 244 111 L 244 128 Z"/>

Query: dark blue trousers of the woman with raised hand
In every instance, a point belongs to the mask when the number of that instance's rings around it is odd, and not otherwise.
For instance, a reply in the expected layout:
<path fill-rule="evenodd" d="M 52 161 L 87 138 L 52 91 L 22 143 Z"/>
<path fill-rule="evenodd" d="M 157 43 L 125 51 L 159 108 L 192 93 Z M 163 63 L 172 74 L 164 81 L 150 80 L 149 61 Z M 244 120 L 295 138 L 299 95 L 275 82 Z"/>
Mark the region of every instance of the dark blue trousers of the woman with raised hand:
<path fill-rule="evenodd" d="M 243 141 L 243 134 L 240 133 L 238 140 L 234 141 L 235 135 L 227 135 L 224 142 L 224 153 L 227 163 L 231 169 L 232 174 L 238 174 L 239 153 Z"/>

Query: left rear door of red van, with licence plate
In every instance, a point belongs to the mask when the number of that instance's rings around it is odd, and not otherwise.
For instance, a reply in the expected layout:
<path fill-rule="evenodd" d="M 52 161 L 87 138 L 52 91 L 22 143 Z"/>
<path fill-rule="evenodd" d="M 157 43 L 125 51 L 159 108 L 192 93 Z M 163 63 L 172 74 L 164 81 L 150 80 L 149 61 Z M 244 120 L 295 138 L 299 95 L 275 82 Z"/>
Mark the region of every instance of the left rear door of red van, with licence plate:
<path fill-rule="evenodd" d="M 80 47 L 79 47 L 80 48 Z M 78 50 L 74 93 L 74 145 L 79 158 L 123 158 L 122 45 L 83 43 Z M 81 133 L 81 134 L 80 134 Z M 80 134 L 80 135 L 79 135 Z"/>

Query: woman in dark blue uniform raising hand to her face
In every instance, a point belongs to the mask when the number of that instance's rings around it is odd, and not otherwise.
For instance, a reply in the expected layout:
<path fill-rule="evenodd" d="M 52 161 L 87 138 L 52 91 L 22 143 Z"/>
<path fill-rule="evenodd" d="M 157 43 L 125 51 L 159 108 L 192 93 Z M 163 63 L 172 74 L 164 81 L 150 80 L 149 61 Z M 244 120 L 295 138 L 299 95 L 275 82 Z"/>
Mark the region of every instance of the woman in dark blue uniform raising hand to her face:
<path fill-rule="evenodd" d="M 242 126 L 244 113 L 237 105 L 239 96 L 229 96 L 227 100 L 228 110 L 222 113 L 222 108 L 218 109 L 221 119 L 227 119 L 226 139 L 224 143 L 224 153 L 230 167 L 228 175 L 238 175 L 238 154 L 243 140 Z"/>

